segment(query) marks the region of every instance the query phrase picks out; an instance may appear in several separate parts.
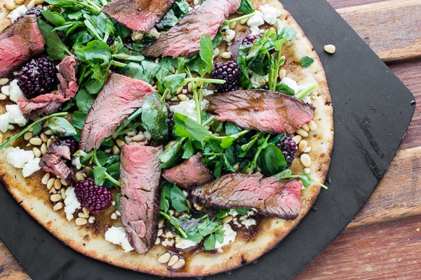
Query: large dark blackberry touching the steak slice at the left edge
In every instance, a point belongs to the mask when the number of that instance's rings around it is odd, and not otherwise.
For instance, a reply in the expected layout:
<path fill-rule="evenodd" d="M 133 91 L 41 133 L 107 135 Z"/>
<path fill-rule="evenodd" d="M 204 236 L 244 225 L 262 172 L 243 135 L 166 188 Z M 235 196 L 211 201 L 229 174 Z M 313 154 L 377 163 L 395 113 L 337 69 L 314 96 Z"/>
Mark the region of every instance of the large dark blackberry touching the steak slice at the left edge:
<path fill-rule="evenodd" d="M 57 68 L 46 57 L 32 59 L 18 74 L 18 85 L 28 99 L 48 93 L 57 83 Z"/>

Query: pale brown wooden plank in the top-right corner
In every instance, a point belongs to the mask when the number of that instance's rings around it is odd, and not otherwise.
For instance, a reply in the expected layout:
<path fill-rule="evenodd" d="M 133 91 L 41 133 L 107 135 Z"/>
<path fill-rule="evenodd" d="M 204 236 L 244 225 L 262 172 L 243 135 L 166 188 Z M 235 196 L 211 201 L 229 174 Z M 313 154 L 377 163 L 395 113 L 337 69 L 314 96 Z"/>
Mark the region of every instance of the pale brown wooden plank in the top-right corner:
<path fill-rule="evenodd" d="M 385 62 L 421 57 L 420 0 L 391 0 L 338 9 Z"/>

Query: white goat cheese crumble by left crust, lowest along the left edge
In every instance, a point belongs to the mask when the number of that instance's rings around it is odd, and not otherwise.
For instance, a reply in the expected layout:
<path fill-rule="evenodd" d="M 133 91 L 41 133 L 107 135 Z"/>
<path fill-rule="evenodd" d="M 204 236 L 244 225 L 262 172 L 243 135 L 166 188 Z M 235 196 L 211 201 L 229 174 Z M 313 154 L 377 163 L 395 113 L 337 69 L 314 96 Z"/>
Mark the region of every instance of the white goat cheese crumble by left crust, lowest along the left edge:
<path fill-rule="evenodd" d="M 27 177 L 37 172 L 39 167 L 39 158 L 35 158 L 33 151 L 25 151 L 19 147 L 8 147 L 4 149 L 4 155 L 8 163 L 15 168 L 22 168 L 22 175 Z"/>

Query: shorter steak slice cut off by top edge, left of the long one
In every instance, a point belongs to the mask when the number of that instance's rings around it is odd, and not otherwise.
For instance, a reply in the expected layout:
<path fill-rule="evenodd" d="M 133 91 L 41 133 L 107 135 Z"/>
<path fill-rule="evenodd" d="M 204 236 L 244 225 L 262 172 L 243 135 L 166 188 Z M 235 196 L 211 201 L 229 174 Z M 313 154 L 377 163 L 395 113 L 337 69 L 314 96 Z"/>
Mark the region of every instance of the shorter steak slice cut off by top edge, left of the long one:
<path fill-rule="evenodd" d="M 102 12 L 126 27 L 149 32 L 163 18 L 174 0 L 115 0 L 102 7 Z"/>

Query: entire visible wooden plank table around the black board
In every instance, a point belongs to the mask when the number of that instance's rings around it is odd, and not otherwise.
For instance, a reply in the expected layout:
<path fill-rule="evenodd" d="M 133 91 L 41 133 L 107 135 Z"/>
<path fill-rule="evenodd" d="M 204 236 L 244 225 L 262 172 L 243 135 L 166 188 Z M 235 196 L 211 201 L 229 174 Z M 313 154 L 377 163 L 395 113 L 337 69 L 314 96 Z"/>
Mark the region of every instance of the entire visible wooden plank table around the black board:
<path fill-rule="evenodd" d="M 421 279 L 421 0 L 328 1 L 413 92 L 417 105 L 370 200 L 295 280 Z M 0 265 L 0 279 L 30 279 L 1 241 Z"/>

